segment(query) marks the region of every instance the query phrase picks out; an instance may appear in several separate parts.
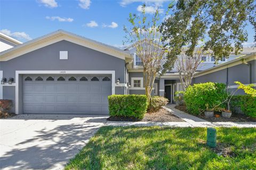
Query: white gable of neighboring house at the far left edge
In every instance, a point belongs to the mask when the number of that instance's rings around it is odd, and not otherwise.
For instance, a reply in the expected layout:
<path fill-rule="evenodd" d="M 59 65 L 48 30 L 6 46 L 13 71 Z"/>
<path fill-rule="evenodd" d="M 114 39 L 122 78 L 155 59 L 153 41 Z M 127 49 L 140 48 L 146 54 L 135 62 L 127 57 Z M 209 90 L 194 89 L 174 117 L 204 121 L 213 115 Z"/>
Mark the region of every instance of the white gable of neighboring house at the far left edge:
<path fill-rule="evenodd" d="M 12 37 L 6 36 L 4 33 L 0 32 L 0 52 L 18 46 L 20 44 L 22 44 L 20 41 Z"/>

